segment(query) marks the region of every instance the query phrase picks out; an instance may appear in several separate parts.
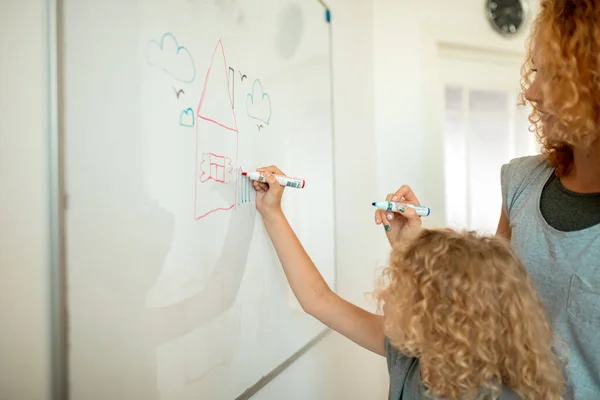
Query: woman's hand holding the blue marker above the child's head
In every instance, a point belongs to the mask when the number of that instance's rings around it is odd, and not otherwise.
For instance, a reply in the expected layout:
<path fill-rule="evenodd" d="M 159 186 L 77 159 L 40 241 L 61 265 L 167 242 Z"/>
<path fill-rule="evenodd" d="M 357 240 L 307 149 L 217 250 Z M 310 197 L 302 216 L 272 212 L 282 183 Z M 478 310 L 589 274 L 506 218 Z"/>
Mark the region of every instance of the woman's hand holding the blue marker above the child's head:
<path fill-rule="evenodd" d="M 406 185 L 402 186 L 396 193 L 390 193 L 385 198 L 387 201 L 420 205 L 417 196 L 412 189 Z M 386 236 L 393 246 L 395 242 L 402 240 L 406 234 L 421 228 L 421 217 L 411 207 L 405 207 L 404 211 L 394 213 L 391 211 L 375 211 L 375 223 L 383 224 Z"/>

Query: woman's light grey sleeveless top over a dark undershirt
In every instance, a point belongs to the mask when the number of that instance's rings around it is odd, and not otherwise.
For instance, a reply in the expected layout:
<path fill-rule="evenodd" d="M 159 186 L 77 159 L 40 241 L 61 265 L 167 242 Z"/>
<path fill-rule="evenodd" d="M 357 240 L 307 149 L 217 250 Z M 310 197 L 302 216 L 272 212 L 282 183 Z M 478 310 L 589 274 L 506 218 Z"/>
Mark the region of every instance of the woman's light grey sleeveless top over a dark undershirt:
<path fill-rule="evenodd" d="M 540 198 L 553 173 L 542 156 L 503 165 L 504 210 L 512 247 L 546 306 L 557 353 L 567 358 L 569 391 L 578 400 L 600 399 L 600 225 L 562 232 L 547 223 Z"/>

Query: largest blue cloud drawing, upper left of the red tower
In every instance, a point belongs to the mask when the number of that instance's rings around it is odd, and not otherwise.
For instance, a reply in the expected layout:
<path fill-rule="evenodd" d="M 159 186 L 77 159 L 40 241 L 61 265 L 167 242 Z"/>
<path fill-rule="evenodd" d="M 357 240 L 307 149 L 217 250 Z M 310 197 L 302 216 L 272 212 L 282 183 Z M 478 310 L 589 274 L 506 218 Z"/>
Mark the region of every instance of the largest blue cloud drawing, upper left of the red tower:
<path fill-rule="evenodd" d="M 180 46 L 170 32 L 165 33 L 160 42 L 152 40 L 148 43 L 146 61 L 180 82 L 191 83 L 196 79 L 196 66 L 190 51 Z"/>

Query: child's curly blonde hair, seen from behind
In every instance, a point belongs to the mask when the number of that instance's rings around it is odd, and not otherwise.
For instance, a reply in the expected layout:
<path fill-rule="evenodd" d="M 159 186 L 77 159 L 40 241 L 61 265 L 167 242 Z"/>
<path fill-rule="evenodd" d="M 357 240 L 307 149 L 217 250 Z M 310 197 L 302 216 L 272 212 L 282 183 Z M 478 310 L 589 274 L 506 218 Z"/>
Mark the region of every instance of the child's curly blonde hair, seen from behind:
<path fill-rule="evenodd" d="M 394 247 L 381 279 L 385 334 L 419 358 L 430 396 L 495 399 L 504 384 L 524 399 L 561 398 L 544 308 L 505 240 L 419 230 Z"/>

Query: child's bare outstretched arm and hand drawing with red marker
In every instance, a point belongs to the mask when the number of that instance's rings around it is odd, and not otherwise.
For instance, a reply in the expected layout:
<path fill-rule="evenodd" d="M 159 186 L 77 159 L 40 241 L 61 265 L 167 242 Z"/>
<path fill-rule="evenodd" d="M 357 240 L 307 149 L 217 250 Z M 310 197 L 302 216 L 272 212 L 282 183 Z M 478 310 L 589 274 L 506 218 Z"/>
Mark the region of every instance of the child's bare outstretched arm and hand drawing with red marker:
<path fill-rule="evenodd" d="M 273 173 L 283 175 L 279 170 Z M 254 186 L 265 228 L 302 309 L 362 347 L 385 356 L 381 316 L 347 302 L 329 288 L 279 207 L 283 189 L 277 181 L 269 179 L 269 186 L 255 182 Z"/>

